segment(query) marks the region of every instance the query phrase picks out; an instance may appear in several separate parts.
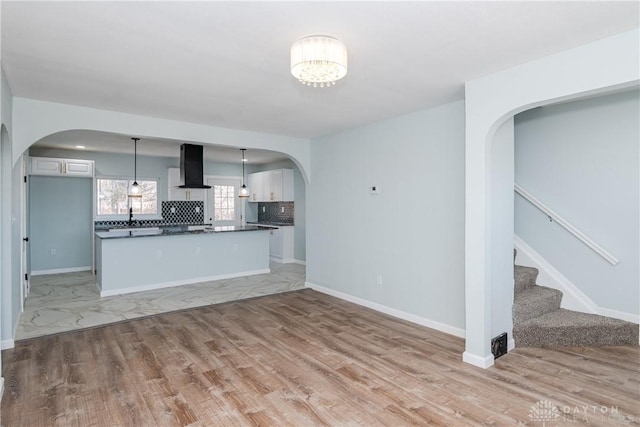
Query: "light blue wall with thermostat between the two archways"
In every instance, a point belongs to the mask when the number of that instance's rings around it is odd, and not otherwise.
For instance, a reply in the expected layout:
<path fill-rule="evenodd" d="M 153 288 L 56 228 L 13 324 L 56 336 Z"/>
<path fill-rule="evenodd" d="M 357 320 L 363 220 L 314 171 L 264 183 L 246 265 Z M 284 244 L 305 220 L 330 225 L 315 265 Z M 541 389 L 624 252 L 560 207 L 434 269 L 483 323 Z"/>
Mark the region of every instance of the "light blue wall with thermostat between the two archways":
<path fill-rule="evenodd" d="M 460 101 L 312 140 L 309 282 L 464 328 L 464 118 Z"/>

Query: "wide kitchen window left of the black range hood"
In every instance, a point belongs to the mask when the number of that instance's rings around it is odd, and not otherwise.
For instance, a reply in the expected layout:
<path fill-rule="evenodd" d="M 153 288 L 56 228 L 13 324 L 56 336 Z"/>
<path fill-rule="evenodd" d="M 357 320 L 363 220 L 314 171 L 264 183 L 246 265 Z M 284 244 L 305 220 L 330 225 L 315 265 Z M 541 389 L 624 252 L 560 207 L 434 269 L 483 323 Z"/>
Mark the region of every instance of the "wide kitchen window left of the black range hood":
<path fill-rule="evenodd" d="M 158 181 L 138 180 L 142 189 L 140 198 L 129 198 L 132 179 L 96 179 L 96 216 L 101 219 L 127 219 L 129 208 L 139 217 L 158 217 Z"/>

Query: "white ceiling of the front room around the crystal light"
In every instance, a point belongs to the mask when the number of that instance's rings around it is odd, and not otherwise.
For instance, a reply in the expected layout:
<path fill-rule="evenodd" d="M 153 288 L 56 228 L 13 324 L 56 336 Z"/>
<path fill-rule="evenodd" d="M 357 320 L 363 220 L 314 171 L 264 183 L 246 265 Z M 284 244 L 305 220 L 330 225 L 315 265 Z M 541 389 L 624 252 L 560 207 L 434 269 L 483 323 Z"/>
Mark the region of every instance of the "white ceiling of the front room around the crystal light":
<path fill-rule="evenodd" d="M 310 138 L 463 99 L 464 82 L 638 27 L 639 2 L 2 1 L 15 96 Z M 296 39 L 349 51 L 331 88 Z"/>

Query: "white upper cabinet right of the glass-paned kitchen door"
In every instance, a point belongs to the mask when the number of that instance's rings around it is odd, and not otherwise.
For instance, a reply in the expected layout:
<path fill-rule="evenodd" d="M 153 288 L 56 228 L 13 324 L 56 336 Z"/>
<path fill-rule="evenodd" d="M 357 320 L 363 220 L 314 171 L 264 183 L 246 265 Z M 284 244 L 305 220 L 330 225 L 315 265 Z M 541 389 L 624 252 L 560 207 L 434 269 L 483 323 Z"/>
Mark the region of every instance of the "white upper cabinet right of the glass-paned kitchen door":
<path fill-rule="evenodd" d="M 247 183 L 250 202 L 292 202 L 293 170 L 275 169 L 265 172 L 251 173 Z"/>

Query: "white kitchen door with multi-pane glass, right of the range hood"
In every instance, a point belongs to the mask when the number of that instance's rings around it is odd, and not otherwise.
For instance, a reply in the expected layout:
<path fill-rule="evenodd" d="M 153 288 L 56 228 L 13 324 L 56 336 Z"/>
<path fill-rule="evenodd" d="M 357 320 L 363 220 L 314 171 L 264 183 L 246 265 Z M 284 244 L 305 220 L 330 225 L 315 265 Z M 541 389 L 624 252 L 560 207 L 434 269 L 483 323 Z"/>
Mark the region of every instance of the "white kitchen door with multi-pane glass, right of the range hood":
<path fill-rule="evenodd" d="M 205 222 L 214 227 L 242 225 L 244 216 L 243 200 L 238 198 L 238 192 L 242 185 L 240 178 L 208 178 L 205 203 L 207 204 L 207 217 Z"/>

